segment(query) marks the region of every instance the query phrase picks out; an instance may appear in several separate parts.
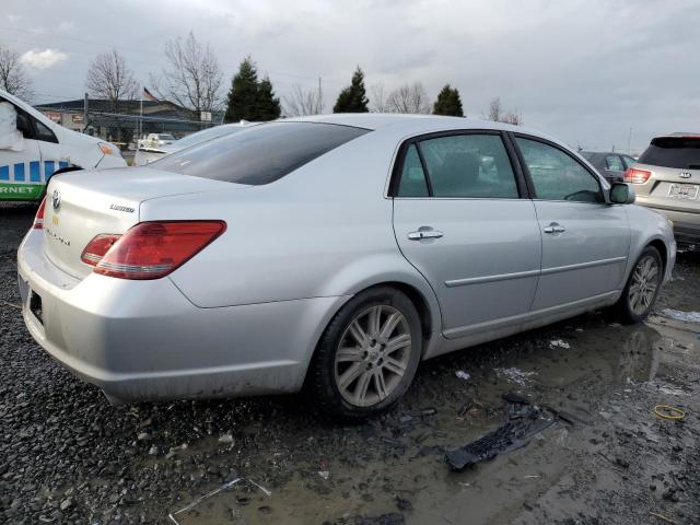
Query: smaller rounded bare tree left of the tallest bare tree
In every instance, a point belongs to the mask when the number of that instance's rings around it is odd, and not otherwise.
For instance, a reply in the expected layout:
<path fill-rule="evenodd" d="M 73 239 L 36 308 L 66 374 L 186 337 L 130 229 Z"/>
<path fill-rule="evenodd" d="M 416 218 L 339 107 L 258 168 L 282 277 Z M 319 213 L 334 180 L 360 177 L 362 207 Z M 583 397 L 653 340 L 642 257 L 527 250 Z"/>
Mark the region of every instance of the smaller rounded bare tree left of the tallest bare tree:
<path fill-rule="evenodd" d="M 95 57 L 88 70 L 85 88 L 92 96 L 109 101 L 115 113 L 119 110 L 120 101 L 133 101 L 139 93 L 133 72 L 116 49 Z"/>

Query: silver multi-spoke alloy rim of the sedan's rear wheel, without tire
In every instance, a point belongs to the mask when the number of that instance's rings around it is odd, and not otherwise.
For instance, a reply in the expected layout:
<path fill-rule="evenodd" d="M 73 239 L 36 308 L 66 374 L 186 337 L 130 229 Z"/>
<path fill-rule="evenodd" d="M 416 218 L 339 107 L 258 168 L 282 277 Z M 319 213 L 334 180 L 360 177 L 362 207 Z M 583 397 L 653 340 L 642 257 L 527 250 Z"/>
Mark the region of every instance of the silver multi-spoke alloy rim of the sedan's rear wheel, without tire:
<path fill-rule="evenodd" d="M 342 398 L 358 407 L 386 399 L 408 368 L 411 332 L 404 314 L 386 304 L 355 315 L 335 357 L 335 380 Z"/>

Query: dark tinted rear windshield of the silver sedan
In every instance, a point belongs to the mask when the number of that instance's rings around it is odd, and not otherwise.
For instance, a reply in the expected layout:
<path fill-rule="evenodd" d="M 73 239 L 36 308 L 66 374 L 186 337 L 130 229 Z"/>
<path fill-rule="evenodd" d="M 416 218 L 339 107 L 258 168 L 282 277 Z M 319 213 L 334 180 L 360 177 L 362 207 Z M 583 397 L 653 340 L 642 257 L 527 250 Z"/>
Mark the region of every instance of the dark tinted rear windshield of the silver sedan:
<path fill-rule="evenodd" d="M 257 186 L 272 183 L 368 131 L 336 124 L 261 124 L 164 156 L 149 167 Z"/>

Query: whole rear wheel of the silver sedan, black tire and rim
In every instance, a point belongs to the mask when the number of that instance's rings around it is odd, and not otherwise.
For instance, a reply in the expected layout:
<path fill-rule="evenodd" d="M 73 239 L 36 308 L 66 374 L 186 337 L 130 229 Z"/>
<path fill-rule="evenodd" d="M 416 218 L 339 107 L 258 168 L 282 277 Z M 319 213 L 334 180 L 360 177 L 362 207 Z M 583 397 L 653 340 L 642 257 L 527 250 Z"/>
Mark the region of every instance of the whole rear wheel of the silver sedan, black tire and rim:
<path fill-rule="evenodd" d="M 326 413 L 359 421 L 393 408 L 416 375 L 422 330 L 416 306 L 389 287 L 365 290 L 335 315 L 310 374 Z"/>

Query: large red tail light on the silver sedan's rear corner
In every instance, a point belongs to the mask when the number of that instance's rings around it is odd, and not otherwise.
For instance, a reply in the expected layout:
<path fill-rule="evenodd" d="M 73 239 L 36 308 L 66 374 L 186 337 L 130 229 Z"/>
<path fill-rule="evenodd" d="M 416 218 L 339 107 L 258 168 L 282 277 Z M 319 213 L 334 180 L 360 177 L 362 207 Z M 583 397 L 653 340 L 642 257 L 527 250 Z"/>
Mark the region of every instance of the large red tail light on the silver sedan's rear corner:
<path fill-rule="evenodd" d="M 117 279 L 160 279 L 191 259 L 225 230 L 223 221 L 141 222 L 106 250 L 94 271 Z M 104 247 L 106 242 L 100 240 L 97 244 L 103 243 Z"/>

